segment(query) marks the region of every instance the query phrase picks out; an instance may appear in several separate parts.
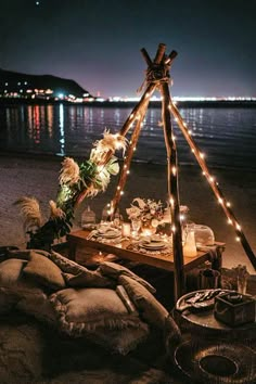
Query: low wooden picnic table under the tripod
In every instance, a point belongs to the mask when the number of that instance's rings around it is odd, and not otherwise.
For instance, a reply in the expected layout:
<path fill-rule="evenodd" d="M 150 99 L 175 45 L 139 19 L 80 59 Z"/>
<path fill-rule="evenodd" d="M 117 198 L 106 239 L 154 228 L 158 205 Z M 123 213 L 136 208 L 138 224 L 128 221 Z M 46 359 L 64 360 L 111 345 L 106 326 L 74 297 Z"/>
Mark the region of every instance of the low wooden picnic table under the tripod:
<path fill-rule="evenodd" d="M 76 260 L 76 249 L 78 245 L 95 248 L 104 253 L 115 254 L 116 256 L 125 259 L 129 259 L 137 263 L 142 263 L 156 268 L 162 268 L 168 271 L 174 271 L 174 255 L 155 255 L 153 252 L 149 254 L 135 252 L 127 247 L 131 244 L 130 240 L 125 240 L 120 244 L 103 243 L 94 240 L 88 240 L 90 231 L 78 230 L 67 235 L 69 245 L 69 258 Z M 220 248 L 221 252 L 225 248 L 225 243 L 216 243 L 216 248 Z M 184 271 L 188 272 L 194 267 L 201 265 L 209 258 L 210 249 L 208 252 L 199 251 L 196 257 L 184 257 Z"/>

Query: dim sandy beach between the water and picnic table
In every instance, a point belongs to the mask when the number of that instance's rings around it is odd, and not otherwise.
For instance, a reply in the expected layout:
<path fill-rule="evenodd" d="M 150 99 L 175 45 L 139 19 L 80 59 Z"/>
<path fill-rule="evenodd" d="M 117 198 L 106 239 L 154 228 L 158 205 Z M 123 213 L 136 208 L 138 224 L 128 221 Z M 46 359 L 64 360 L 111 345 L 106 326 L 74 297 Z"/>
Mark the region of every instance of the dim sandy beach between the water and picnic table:
<path fill-rule="evenodd" d="M 57 177 L 61 157 L 49 156 L 0 156 L 0 245 L 26 246 L 23 221 L 18 208 L 13 204 L 21 196 L 35 196 L 40 202 L 42 213 L 48 217 L 48 202 L 54 200 L 57 191 Z M 256 252 L 256 178 L 248 172 L 239 174 L 217 169 L 213 171 L 226 197 L 232 203 L 243 231 Z M 74 228 L 79 226 L 80 215 L 89 204 L 95 212 L 98 220 L 104 205 L 112 199 L 117 177 L 113 177 L 105 193 L 93 200 L 86 200 L 76 210 Z M 132 164 L 120 212 L 135 197 L 151 197 L 166 201 L 166 167 L 152 164 Z M 255 274 L 246 254 L 235 241 L 233 228 L 217 203 L 210 188 L 197 166 L 182 167 L 180 170 L 180 202 L 190 208 L 190 220 L 209 226 L 217 241 L 226 243 L 223 267 L 232 268 L 238 264 L 246 265 L 249 273 Z"/>

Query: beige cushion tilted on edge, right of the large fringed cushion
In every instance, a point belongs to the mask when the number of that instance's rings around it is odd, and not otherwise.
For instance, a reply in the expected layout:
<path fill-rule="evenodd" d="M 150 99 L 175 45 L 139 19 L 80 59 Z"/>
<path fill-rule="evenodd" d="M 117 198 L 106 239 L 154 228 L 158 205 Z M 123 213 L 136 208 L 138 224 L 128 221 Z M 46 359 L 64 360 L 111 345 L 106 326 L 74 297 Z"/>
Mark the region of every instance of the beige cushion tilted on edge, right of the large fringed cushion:
<path fill-rule="evenodd" d="M 137 306 L 142 318 L 157 328 L 164 329 L 168 311 L 138 281 L 128 276 L 120 276 L 119 284 L 124 285 L 131 300 Z"/>

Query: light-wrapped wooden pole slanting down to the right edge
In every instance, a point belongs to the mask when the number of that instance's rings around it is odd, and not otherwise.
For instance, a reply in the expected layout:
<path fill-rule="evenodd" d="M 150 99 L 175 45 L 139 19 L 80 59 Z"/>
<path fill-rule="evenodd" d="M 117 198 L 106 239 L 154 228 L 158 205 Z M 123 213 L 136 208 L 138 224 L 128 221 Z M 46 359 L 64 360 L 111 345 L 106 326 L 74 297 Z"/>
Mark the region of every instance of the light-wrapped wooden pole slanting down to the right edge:
<path fill-rule="evenodd" d="M 215 179 L 215 177 L 213 175 L 210 175 L 208 167 L 206 165 L 206 162 L 204 159 L 204 153 L 202 153 L 200 151 L 200 149 L 197 148 L 197 145 L 195 144 L 193 138 L 192 138 L 192 131 L 188 128 L 187 124 L 183 121 L 182 116 L 180 115 L 177 106 L 170 101 L 169 104 L 169 110 L 171 111 L 172 115 L 175 116 L 175 119 L 180 128 L 180 130 L 182 131 L 187 142 L 189 143 L 192 153 L 194 154 L 199 165 L 201 166 L 201 169 L 203 171 L 203 175 L 205 176 L 206 180 L 208 181 L 216 199 L 217 202 L 220 204 L 220 206 L 222 207 L 227 218 L 228 218 L 228 223 L 232 225 L 234 228 L 234 231 L 236 233 L 236 241 L 240 241 L 246 255 L 248 256 L 252 265 L 254 266 L 254 269 L 256 269 L 256 257 L 242 231 L 242 227 L 240 226 L 238 219 L 235 218 L 233 212 L 231 210 L 230 206 L 230 202 L 228 202 L 222 193 L 222 191 L 219 188 L 219 184 L 217 182 L 217 180 Z"/>

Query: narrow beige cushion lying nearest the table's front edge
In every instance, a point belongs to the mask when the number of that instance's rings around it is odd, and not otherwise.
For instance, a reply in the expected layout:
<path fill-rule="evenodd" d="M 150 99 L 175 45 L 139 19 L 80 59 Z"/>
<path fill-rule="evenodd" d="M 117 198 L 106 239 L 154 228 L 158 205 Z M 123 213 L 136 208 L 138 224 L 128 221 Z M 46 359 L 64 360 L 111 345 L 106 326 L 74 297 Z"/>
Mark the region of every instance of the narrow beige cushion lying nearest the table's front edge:
<path fill-rule="evenodd" d="M 154 286 L 152 286 L 148 281 L 141 279 L 136 273 L 131 272 L 128 268 L 120 266 L 116 263 L 104 261 L 100 265 L 99 271 L 113 279 L 118 279 L 119 276 L 129 276 L 133 280 L 138 281 L 141 285 L 145 286 L 151 293 L 155 293 Z"/>

